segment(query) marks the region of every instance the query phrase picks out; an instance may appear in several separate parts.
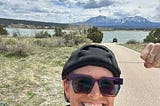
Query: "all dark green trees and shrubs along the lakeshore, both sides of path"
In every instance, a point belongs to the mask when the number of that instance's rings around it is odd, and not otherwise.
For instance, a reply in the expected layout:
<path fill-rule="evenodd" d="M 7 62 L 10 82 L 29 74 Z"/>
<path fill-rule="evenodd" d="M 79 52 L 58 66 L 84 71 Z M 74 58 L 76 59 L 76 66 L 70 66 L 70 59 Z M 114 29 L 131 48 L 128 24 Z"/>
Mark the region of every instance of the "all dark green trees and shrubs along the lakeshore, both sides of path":
<path fill-rule="evenodd" d="M 76 32 L 70 32 L 70 33 L 62 32 L 62 28 L 60 27 L 56 27 L 54 29 L 54 32 L 55 34 L 53 36 L 56 36 L 56 37 L 73 38 L 73 36 L 77 35 Z M 102 42 L 103 33 L 96 26 L 90 27 L 88 29 L 80 30 L 79 32 L 80 32 L 79 33 L 80 35 L 83 34 L 82 36 L 86 36 L 88 39 L 90 39 L 94 43 Z M 7 30 L 2 25 L 0 25 L 0 35 L 8 35 Z M 17 37 L 17 36 L 20 36 L 20 34 L 13 33 L 13 37 Z M 50 38 L 50 37 L 52 37 L 52 35 L 50 35 L 47 31 L 41 31 L 35 34 L 35 38 Z M 144 42 L 160 43 L 160 28 L 152 29 L 144 39 Z"/>

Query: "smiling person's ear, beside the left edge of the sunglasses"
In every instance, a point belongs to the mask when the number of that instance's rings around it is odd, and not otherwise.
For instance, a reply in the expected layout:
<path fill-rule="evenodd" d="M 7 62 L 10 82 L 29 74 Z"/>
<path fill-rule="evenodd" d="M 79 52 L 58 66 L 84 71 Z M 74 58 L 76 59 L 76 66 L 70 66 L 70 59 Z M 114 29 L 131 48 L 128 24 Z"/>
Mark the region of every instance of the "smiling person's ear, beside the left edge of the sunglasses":
<path fill-rule="evenodd" d="M 70 85 L 68 80 L 63 80 L 64 96 L 69 101 L 70 98 Z"/>

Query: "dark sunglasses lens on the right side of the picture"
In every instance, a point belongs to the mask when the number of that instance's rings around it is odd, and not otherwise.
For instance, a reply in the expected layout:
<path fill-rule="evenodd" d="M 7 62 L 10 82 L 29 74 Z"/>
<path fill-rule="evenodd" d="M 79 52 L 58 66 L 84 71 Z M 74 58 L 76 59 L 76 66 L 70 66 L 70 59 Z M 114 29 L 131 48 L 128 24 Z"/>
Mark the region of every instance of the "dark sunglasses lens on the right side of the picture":
<path fill-rule="evenodd" d="M 99 81 L 101 93 L 106 96 L 115 96 L 117 93 L 116 86 L 112 80 L 103 79 Z"/>

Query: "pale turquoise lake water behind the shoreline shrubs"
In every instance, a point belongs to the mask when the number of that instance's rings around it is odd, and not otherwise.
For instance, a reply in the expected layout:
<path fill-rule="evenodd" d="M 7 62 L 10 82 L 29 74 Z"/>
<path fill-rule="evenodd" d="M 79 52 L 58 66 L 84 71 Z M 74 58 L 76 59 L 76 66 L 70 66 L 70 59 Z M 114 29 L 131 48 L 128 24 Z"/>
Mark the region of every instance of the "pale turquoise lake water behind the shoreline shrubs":
<path fill-rule="evenodd" d="M 13 32 L 19 32 L 23 36 L 34 36 L 39 31 L 47 31 L 53 35 L 53 29 L 25 29 L 25 28 L 6 28 L 9 35 L 12 36 Z M 67 32 L 67 30 L 64 30 Z M 136 30 L 117 30 L 117 31 L 102 31 L 103 32 L 103 43 L 112 42 L 113 38 L 116 37 L 119 43 L 126 43 L 129 40 L 136 40 L 143 42 L 143 39 L 149 34 L 149 31 L 136 31 Z"/>

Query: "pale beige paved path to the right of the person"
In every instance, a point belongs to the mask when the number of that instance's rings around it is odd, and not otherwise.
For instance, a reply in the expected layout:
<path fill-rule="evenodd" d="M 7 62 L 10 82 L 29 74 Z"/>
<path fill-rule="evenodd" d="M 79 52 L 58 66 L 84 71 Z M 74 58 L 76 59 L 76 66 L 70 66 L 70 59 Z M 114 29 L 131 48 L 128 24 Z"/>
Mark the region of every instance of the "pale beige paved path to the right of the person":
<path fill-rule="evenodd" d="M 160 69 L 146 69 L 140 53 L 117 44 L 105 44 L 117 58 L 124 84 L 115 106 L 160 106 Z"/>

